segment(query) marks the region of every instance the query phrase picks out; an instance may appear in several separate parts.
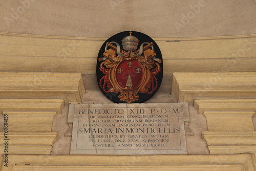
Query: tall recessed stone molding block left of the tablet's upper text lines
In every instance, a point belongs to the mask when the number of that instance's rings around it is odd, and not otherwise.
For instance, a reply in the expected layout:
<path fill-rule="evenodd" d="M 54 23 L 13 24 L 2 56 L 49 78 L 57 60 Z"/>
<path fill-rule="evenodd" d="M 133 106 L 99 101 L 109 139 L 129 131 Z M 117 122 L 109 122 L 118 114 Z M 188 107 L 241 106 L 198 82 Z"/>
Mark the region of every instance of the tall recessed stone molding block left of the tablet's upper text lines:
<path fill-rule="evenodd" d="M 8 114 L 9 132 L 51 132 L 56 112 L 3 112 Z M 20 133 L 22 134 L 22 133 Z"/>

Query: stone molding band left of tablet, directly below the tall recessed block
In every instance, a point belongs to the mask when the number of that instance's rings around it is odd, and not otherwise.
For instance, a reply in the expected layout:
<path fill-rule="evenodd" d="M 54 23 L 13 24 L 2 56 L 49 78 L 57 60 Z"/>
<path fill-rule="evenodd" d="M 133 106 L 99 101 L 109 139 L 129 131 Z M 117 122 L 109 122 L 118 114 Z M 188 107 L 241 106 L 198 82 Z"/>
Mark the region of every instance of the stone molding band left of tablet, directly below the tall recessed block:
<path fill-rule="evenodd" d="M 4 133 L 0 133 L 4 137 Z M 9 145 L 14 146 L 51 146 L 57 140 L 57 132 L 46 132 L 46 133 L 21 133 L 12 132 L 8 133 Z M 3 146 L 4 144 L 0 144 Z"/>

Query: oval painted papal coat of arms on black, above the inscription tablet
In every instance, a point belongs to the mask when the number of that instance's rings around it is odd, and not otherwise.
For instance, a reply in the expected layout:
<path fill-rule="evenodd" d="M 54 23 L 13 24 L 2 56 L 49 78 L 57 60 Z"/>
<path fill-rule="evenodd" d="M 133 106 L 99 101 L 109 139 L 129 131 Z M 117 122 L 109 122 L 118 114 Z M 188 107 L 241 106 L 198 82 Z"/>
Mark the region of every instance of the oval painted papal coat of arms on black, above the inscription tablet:
<path fill-rule="evenodd" d="M 162 77 L 160 49 L 143 33 L 118 33 L 106 40 L 99 51 L 98 84 L 105 96 L 114 102 L 140 103 L 147 100 L 159 89 Z"/>

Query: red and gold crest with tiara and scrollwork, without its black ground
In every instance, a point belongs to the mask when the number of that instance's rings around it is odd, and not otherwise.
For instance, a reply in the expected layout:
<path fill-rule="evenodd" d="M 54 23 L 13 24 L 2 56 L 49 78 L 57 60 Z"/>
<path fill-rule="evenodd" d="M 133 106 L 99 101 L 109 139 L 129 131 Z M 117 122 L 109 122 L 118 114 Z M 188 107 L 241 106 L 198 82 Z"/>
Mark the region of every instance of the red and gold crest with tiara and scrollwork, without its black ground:
<path fill-rule="evenodd" d="M 154 42 L 143 42 L 137 49 L 138 44 L 138 38 L 130 32 L 122 39 L 123 50 L 116 41 L 106 42 L 98 58 L 103 73 L 99 87 L 104 93 L 119 93 L 121 102 L 136 102 L 142 93 L 153 94 L 161 83 L 156 76 L 162 71 L 162 60 L 156 57 Z"/>

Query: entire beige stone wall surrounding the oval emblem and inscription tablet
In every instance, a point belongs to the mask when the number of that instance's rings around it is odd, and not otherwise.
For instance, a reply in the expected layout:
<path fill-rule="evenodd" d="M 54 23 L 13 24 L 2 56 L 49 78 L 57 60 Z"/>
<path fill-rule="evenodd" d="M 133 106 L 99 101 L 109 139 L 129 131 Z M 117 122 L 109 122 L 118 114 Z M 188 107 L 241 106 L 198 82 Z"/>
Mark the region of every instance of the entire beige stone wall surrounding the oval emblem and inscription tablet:
<path fill-rule="evenodd" d="M 0 111 L 21 128 L 10 127 L 11 167 L 2 157 L 1 170 L 254 170 L 255 9 L 253 0 L 0 1 Z M 190 103 L 189 155 L 69 156 L 68 103 L 111 103 L 97 87 L 96 58 L 104 40 L 124 30 L 153 37 L 163 54 L 162 85 L 146 103 Z M 213 72 L 226 76 L 196 96 L 220 78 Z"/>

